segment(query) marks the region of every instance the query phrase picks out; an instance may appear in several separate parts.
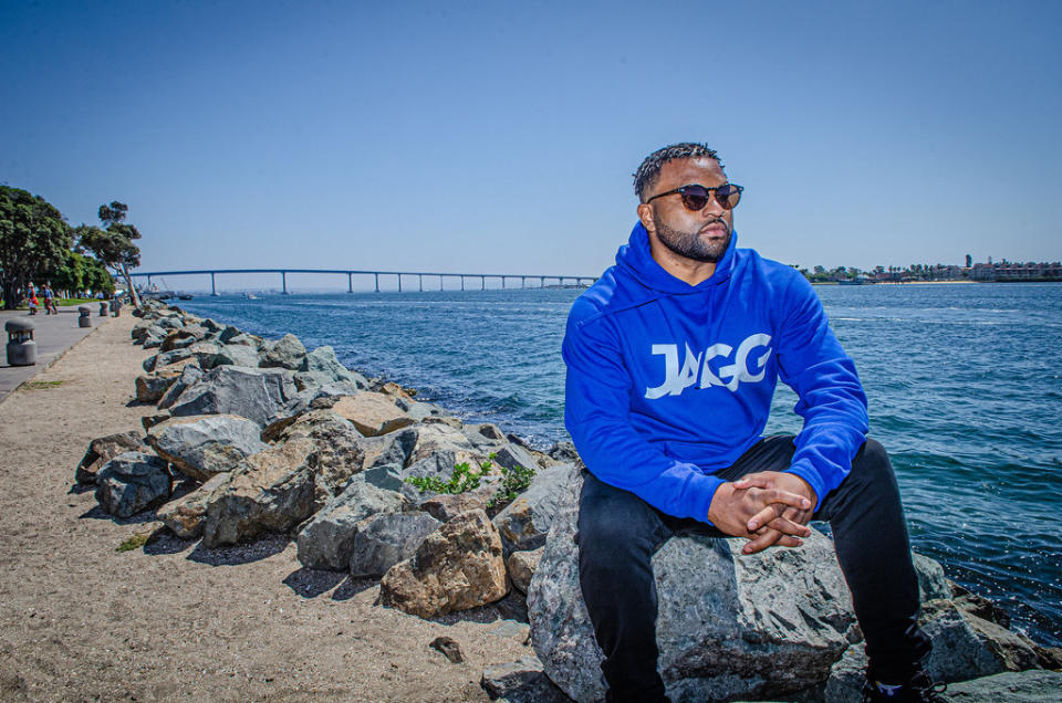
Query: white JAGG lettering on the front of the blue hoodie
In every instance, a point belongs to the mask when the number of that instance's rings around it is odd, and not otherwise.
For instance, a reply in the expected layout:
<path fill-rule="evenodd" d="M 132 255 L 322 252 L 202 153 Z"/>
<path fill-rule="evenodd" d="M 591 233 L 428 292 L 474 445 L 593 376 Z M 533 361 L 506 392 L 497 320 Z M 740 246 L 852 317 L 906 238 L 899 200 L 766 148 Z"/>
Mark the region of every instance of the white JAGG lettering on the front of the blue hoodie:
<path fill-rule="evenodd" d="M 771 356 L 771 336 L 767 334 L 749 335 L 735 353 L 733 347 L 721 342 L 716 343 L 705 349 L 701 354 L 695 354 L 686 344 L 686 358 L 683 360 L 683 367 L 678 367 L 678 345 L 675 344 L 654 344 L 653 354 L 664 356 L 664 382 L 655 388 L 646 388 L 645 397 L 649 400 L 663 398 L 664 396 L 680 396 L 686 388 L 697 384 L 698 374 L 700 384 L 698 388 L 708 388 L 710 386 L 721 386 L 735 392 L 742 381 L 756 384 L 763 380 L 767 374 L 767 360 Z M 766 348 L 752 359 L 752 367 L 749 366 L 749 355 L 753 349 Z M 720 366 L 718 371 L 712 371 L 709 363 L 722 357 L 729 359 L 733 354 L 733 363 Z M 701 361 L 704 359 L 704 361 Z"/>

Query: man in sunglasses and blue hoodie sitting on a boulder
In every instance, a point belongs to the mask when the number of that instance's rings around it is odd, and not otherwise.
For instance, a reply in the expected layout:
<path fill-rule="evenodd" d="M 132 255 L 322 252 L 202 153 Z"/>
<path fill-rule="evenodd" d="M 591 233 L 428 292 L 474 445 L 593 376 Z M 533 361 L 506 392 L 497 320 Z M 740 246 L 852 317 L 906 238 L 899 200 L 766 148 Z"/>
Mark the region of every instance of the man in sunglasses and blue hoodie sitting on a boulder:
<path fill-rule="evenodd" d="M 679 527 L 799 547 L 830 521 L 870 660 L 872 701 L 937 700 L 888 457 L 819 297 L 791 266 L 737 248 L 716 151 L 676 144 L 635 174 L 638 219 L 572 306 L 565 422 L 586 463 L 580 583 L 610 701 L 660 701 L 650 558 Z M 796 437 L 762 438 L 778 379 Z M 694 522 L 697 521 L 697 522 Z"/>

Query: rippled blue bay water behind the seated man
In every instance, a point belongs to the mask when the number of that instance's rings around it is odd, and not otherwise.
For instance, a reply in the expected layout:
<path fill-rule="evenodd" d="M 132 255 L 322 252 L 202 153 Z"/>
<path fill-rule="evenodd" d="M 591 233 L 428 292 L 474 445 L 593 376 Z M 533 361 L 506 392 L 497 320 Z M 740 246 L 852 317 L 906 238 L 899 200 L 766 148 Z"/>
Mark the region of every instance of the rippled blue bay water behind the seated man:
<path fill-rule="evenodd" d="M 196 314 L 415 387 L 539 445 L 563 427 L 574 290 L 197 297 Z M 1062 284 L 819 286 L 888 449 L 915 549 L 1062 646 Z M 796 432 L 780 385 L 768 432 Z"/>

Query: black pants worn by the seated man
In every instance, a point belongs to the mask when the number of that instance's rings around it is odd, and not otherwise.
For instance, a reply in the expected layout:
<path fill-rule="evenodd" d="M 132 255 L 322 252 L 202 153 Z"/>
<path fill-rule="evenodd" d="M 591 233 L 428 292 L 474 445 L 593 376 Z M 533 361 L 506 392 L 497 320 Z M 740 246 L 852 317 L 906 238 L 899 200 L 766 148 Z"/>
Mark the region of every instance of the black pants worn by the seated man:
<path fill-rule="evenodd" d="M 793 452 L 791 436 L 761 439 L 716 475 L 736 481 L 756 471 L 784 471 Z M 579 580 L 605 654 L 601 667 L 608 700 L 663 700 L 664 682 L 656 670 L 653 554 L 676 532 L 725 535 L 706 523 L 666 515 L 592 474 L 584 476 Z M 866 441 L 852 461 L 852 472 L 820 501 L 813 520 L 829 521 L 833 531 L 837 562 L 865 638 L 867 674 L 879 681 L 906 681 L 929 652 L 929 640 L 918 629 L 918 581 L 904 511 L 892 463 L 879 443 Z"/>

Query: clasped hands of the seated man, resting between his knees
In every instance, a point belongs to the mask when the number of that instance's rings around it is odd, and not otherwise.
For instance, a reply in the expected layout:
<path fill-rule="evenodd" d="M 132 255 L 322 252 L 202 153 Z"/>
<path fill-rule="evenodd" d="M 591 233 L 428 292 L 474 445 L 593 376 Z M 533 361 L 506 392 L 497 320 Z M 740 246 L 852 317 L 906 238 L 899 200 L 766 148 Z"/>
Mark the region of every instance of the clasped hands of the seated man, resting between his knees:
<path fill-rule="evenodd" d="M 801 537 L 811 534 L 806 525 L 816 500 L 796 474 L 760 471 L 720 485 L 708 506 L 708 520 L 728 535 L 748 538 L 743 554 L 799 547 Z"/>

